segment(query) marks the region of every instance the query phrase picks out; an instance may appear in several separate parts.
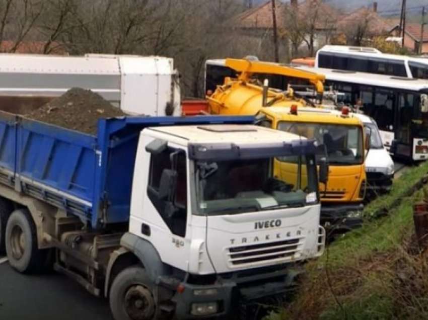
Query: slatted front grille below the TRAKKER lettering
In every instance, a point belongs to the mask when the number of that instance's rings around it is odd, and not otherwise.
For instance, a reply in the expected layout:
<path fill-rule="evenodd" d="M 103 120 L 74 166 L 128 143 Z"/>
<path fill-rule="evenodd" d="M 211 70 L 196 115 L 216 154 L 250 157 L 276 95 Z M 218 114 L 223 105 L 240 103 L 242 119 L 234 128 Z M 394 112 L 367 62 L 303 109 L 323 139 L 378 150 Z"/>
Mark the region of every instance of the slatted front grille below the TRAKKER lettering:
<path fill-rule="evenodd" d="M 301 238 L 229 248 L 229 263 L 232 266 L 262 264 L 272 260 L 292 260 L 302 245 Z"/>

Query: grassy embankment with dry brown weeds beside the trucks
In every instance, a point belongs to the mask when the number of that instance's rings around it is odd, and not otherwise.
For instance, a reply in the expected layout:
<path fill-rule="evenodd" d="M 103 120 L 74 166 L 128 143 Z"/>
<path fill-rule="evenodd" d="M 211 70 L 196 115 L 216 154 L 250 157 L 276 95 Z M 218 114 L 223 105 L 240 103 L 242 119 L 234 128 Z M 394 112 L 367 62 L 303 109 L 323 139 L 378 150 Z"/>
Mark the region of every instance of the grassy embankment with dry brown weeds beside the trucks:
<path fill-rule="evenodd" d="M 428 255 L 415 245 L 412 211 L 423 192 L 411 190 L 426 174 L 428 162 L 367 205 L 365 225 L 308 263 L 293 302 L 267 318 L 428 318 Z M 379 213 L 387 215 L 373 219 Z"/>

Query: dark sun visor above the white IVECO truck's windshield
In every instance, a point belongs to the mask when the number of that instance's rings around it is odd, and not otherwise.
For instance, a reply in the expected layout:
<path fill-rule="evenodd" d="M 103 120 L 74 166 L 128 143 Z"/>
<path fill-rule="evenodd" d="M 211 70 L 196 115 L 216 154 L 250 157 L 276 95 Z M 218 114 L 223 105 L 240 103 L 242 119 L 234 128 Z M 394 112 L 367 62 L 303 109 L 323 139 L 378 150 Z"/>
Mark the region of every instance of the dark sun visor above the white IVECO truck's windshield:
<path fill-rule="evenodd" d="M 294 140 L 282 143 L 235 144 L 189 143 L 189 159 L 197 161 L 224 161 L 230 159 L 257 159 L 266 157 L 315 154 L 315 140 Z"/>

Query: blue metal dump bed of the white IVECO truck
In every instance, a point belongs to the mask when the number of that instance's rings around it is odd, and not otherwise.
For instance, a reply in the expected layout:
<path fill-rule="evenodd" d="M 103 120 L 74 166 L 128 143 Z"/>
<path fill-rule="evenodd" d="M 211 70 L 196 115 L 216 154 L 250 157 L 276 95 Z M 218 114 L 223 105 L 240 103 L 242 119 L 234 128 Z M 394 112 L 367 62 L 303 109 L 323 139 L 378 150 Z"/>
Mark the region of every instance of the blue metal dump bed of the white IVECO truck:
<path fill-rule="evenodd" d="M 253 123 L 253 117 L 123 117 L 98 121 L 97 136 L 0 112 L 0 183 L 93 228 L 126 222 L 139 132 L 146 127 Z"/>

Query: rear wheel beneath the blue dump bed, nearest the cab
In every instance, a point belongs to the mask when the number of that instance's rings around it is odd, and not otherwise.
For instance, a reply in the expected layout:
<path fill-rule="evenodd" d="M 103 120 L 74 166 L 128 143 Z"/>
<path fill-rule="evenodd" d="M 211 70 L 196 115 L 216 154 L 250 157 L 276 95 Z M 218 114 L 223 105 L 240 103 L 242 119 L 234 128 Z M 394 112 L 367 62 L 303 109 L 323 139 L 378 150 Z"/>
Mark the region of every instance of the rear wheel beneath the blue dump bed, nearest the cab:
<path fill-rule="evenodd" d="M 37 248 L 37 233 L 27 209 L 12 212 L 6 226 L 6 253 L 9 264 L 21 273 L 43 270 L 46 251 Z"/>

